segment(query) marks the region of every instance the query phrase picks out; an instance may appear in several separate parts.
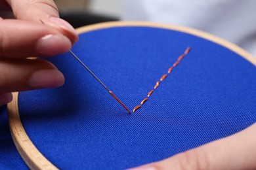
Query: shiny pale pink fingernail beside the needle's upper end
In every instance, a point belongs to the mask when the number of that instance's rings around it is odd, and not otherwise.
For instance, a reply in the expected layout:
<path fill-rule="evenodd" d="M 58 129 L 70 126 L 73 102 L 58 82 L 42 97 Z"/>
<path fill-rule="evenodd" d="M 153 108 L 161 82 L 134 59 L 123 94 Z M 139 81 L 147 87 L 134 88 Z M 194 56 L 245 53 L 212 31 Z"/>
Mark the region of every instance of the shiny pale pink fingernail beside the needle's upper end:
<path fill-rule="evenodd" d="M 64 35 L 45 35 L 37 41 L 35 50 L 40 54 L 54 56 L 68 52 L 72 47 L 72 42 Z"/>

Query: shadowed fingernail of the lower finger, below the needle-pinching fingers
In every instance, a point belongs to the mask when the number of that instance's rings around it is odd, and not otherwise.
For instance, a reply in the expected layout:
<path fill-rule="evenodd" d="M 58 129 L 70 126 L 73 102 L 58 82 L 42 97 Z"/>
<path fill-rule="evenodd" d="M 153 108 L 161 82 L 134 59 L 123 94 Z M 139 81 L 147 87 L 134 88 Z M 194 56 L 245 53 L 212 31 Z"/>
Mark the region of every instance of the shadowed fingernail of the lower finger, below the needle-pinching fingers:
<path fill-rule="evenodd" d="M 64 84 L 64 76 L 55 69 L 36 71 L 29 80 L 29 85 L 33 88 L 54 88 L 62 84 Z"/>

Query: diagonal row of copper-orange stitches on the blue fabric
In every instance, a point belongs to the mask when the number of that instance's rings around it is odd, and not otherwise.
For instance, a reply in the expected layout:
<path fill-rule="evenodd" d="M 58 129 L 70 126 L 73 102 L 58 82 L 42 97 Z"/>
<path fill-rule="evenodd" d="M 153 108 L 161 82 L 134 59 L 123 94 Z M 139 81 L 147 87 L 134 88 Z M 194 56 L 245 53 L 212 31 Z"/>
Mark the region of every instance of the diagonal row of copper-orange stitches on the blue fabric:
<path fill-rule="evenodd" d="M 173 65 L 168 69 L 167 71 L 167 74 L 165 75 L 162 75 L 161 78 L 160 78 L 160 81 L 157 81 L 156 82 L 156 85 L 154 86 L 154 89 L 150 90 L 150 92 L 148 92 L 148 97 L 150 97 L 150 95 L 152 95 L 152 93 L 154 92 L 154 90 L 156 90 L 156 88 L 158 88 L 160 86 L 160 82 L 162 82 L 163 80 L 165 80 L 165 78 L 171 73 L 171 71 L 173 71 L 173 68 L 174 67 L 177 67 L 177 65 L 179 65 L 181 59 L 183 59 L 187 54 L 188 52 L 190 52 L 191 50 L 191 47 L 188 46 L 188 48 L 186 48 L 186 50 L 184 51 L 183 54 L 181 54 L 181 56 L 179 56 L 179 58 L 177 59 L 177 61 L 175 61 L 175 63 L 173 63 Z M 142 105 L 148 101 L 148 98 L 144 98 L 141 102 L 140 102 L 140 105 L 137 105 L 134 109 L 133 109 L 133 112 L 136 112 L 138 109 L 140 109 L 140 107 L 142 107 Z"/>

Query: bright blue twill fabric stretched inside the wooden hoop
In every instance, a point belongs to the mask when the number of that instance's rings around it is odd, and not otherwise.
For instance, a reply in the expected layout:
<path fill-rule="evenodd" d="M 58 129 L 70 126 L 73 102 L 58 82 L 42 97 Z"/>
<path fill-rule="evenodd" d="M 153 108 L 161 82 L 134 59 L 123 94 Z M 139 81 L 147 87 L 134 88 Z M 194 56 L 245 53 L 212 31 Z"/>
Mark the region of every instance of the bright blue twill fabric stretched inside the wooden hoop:
<path fill-rule="evenodd" d="M 70 54 L 49 59 L 66 83 L 21 92 L 19 108 L 35 146 L 60 169 L 135 167 L 256 122 L 256 68 L 223 46 L 150 27 L 101 29 L 79 39 L 73 52 L 131 110 L 192 50 L 132 115 Z"/>

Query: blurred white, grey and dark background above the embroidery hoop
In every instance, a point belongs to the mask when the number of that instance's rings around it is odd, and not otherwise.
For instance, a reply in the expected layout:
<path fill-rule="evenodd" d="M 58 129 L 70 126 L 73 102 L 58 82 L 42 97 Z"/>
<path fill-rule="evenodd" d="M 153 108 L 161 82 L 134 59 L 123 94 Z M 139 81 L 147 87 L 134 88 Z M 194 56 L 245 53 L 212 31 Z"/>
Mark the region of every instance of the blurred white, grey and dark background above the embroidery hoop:
<path fill-rule="evenodd" d="M 256 56 L 256 0 L 54 0 L 74 27 L 140 20 L 192 27 Z"/>

